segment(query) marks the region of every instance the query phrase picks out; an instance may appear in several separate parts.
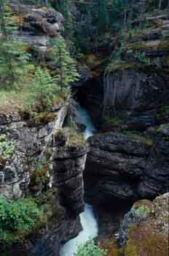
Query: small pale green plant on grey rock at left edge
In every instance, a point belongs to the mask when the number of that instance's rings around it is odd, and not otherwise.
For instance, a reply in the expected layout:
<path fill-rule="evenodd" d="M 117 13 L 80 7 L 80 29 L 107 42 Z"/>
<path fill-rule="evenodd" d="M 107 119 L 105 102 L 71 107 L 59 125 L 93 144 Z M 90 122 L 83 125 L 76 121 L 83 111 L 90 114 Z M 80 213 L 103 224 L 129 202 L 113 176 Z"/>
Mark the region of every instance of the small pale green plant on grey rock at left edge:
<path fill-rule="evenodd" d="M 7 140 L 6 135 L 0 135 L 0 155 L 4 159 L 9 159 L 15 152 L 14 141 Z"/>

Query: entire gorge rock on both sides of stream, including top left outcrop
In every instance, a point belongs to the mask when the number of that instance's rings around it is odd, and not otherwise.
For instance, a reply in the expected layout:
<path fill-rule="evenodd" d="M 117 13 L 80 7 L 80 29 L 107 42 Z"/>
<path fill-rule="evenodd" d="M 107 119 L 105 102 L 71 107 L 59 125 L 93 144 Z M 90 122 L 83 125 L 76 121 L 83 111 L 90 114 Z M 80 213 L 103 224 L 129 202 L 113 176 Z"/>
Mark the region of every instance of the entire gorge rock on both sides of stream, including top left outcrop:
<path fill-rule="evenodd" d="M 39 56 L 55 70 L 47 41 L 64 30 L 63 16 L 52 8 L 10 2 L 21 21 L 17 36 L 28 42 L 31 59 Z M 95 65 L 77 64 L 81 79 L 71 89 L 98 129 L 87 142 L 76 143 L 65 128 L 72 118 L 81 132 L 85 128 L 70 99 L 36 116 L 0 113 L 0 142 L 13 148 L 7 160 L 0 151 L 0 198 L 36 195 L 47 215 L 43 227 L 3 256 L 58 256 L 60 246 L 82 230 L 79 214 L 85 200 L 98 217 L 98 244 L 109 251 L 117 234 L 115 256 L 140 256 L 147 246 L 144 256 L 168 255 L 169 19 L 149 19 L 148 31 L 125 37 L 122 59 L 105 61 L 103 56 Z M 123 211 L 114 221 L 118 206 Z"/>

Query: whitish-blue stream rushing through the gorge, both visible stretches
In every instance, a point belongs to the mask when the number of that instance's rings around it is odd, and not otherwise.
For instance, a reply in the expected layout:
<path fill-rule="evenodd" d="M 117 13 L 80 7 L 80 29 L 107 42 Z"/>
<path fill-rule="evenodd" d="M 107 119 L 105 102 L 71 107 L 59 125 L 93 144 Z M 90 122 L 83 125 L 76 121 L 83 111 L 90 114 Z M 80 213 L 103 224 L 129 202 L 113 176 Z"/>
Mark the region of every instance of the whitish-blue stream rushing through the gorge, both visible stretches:
<path fill-rule="evenodd" d="M 87 110 L 77 106 L 76 118 L 80 124 L 84 124 L 86 129 L 84 130 L 84 138 L 87 140 L 95 132 L 93 122 L 87 113 Z M 88 238 L 95 238 L 98 235 L 98 223 L 93 214 L 93 207 L 89 204 L 85 204 L 84 211 L 80 214 L 80 220 L 83 230 L 76 238 L 68 241 L 61 249 L 60 256 L 74 256 L 78 244 L 84 244 Z"/>

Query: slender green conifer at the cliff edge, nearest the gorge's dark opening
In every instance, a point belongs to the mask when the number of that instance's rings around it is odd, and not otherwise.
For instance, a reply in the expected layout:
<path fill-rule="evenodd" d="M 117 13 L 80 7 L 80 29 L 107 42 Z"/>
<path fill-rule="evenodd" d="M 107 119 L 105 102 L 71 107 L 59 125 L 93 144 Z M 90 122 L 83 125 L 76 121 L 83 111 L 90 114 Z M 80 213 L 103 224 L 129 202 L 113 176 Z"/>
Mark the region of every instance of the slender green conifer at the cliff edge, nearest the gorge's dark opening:
<path fill-rule="evenodd" d="M 76 71 L 76 63 L 71 58 L 66 50 L 66 44 L 63 38 L 58 39 L 57 47 L 54 49 L 55 64 L 57 66 L 58 74 L 55 75 L 55 81 L 60 86 L 60 89 L 69 89 L 70 83 L 75 82 L 79 78 Z"/>

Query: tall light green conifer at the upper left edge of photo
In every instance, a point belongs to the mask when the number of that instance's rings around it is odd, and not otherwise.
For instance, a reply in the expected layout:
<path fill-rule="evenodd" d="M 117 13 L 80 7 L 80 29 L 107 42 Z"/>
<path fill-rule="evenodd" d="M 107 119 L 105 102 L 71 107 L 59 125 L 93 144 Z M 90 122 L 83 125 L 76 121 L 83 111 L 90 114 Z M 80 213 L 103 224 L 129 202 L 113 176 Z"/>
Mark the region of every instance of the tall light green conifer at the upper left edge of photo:
<path fill-rule="evenodd" d="M 4 84 L 14 84 L 21 78 L 25 78 L 30 68 L 25 45 L 23 42 L 12 39 L 12 33 L 16 30 L 17 25 L 12 20 L 7 1 L 3 0 L 0 4 L 0 78 Z"/>

